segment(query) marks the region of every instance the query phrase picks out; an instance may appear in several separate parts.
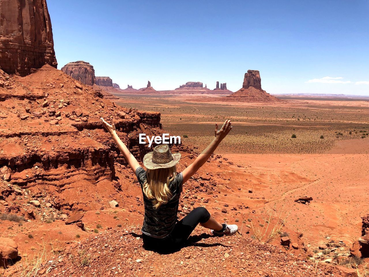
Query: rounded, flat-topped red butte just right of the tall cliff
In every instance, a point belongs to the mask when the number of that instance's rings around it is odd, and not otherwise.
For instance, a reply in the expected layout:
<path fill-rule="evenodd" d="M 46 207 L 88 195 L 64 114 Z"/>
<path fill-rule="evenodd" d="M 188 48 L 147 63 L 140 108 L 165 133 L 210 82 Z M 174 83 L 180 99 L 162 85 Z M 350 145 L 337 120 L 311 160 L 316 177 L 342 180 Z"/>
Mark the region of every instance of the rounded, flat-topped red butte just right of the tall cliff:
<path fill-rule="evenodd" d="M 85 85 L 92 86 L 95 83 L 95 70 L 85 61 L 69 62 L 61 69 L 66 75 Z"/>

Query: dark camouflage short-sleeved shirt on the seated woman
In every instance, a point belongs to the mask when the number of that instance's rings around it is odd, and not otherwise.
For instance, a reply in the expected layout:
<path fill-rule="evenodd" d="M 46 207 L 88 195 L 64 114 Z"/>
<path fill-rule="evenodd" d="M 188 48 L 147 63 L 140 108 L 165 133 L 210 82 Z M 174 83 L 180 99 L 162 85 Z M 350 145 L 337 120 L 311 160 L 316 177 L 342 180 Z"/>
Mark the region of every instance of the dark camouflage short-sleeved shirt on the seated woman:
<path fill-rule="evenodd" d="M 139 167 L 136 170 L 138 182 L 141 185 L 146 181 L 146 171 Z M 179 196 L 182 192 L 183 175 L 177 174 L 172 182 L 169 184 L 169 189 L 172 192 L 172 198 L 166 203 L 162 204 L 158 209 L 155 209 L 152 201 L 149 200 L 142 192 L 145 205 L 144 225 L 142 226 L 142 233 L 145 235 L 163 238 L 168 236 L 177 222 L 177 212 L 179 204 Z"/>

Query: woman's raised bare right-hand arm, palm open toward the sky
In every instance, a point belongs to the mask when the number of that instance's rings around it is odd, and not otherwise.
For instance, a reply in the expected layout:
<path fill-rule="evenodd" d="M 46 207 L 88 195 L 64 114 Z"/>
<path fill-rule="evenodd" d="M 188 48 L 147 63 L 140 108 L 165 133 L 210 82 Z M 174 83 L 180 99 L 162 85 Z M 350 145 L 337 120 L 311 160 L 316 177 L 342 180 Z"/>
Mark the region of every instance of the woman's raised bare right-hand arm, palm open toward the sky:
<path fill-rule="evenodd" d="M 196 158 L 196 160 L 190 164 L 185 170 L 182 171 L 183 183 L 191 178 L 193 174 L 203 166 L 204 163 L 210 158 L 214 150 L 218 147 L 220 142 L 225 136 L 232 130 L 231 121 L 225 120 L 222 128 L 218 130 L 218 124 L 215 123 L 215 137 L 213 141 L 201 152 L 201 154 Z"/>

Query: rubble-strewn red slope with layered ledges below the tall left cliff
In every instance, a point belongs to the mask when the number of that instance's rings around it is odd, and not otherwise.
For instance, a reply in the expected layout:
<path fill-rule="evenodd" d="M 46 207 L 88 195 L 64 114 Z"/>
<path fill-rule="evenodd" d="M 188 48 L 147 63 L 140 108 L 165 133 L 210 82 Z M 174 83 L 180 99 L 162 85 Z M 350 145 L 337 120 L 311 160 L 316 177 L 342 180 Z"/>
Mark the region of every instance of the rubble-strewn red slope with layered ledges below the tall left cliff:
<path fill-rule="evenodd" d="M 42 197 L 46 201 L 42 205 L 49 202 L 53 207 L 44 216 L 32 209 L 28 214 L 26 200 L 11 201 L 12 196 L 3 191 L 0 200 L 8 201 L 0 205 L 3 213 L 46 220 L 108 205 L 104 197 L 117 194 L 121 185 L 117 167 L 121 170 L 127 162 L 103 129 L 101 116 L 115 123 L 118 136 L 138 160 L 151 151 L 139 144 L 138 134 L 162 133 L 160 113 L 117 106 L 98 90 L 49 65 L 26 77 L 0 71 L 0 83 L 4 188 L 13 194 L 15 188 L 30 190 L 29 200 Z"/>

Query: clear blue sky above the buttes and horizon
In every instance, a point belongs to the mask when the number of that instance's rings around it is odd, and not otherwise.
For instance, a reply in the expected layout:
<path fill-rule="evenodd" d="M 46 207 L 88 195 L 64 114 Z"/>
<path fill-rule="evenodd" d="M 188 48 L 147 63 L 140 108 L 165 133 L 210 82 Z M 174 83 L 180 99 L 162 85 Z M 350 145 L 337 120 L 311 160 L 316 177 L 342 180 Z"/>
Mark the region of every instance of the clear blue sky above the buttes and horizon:
<path fill-rule="evenodd" d="M 49 0 L 48 8 L 58 68 L 84 60 L 121 88 L 219 81 L 235 91 L 258 69 L 269 93 L 369 95 L 366 0 Z"/>

